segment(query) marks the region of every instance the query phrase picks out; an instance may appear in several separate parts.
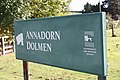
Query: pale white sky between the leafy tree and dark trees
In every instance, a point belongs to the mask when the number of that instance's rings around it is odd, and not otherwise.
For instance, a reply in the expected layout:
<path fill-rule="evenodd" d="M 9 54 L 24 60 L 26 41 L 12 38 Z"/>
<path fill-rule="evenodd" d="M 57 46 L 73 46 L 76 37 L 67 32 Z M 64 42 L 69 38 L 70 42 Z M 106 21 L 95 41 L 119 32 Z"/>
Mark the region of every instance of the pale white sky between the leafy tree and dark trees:
<path fill-rule="evenodd" d="M 102 2 L 104 0 L 100 0 L 100 2 Z M 84 5 L 86 3 L 90 3 L 92 5 L 95 5 L 99 2 L 99 0 L 72 0 L 71 4 L 70 4 L 70 11 L 81 11 L 84 9 Z"/>

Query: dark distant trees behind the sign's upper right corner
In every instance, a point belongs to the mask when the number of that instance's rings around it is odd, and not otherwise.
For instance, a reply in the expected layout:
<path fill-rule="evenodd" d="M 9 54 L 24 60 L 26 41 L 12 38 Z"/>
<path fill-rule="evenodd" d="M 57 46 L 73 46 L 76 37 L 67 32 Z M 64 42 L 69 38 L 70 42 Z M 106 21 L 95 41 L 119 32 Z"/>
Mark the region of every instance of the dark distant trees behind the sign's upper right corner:
<path fill-rule="evenodd" d="M 99 12 L 99 3 L 97 5 L 91 5 L 87 3 L 84 5 L 82 12 Z M 101 11 L 111 14 L 112 19 L 118 20 L 120 18 L 120 0 L 105 0 L 102 2 Z"/>

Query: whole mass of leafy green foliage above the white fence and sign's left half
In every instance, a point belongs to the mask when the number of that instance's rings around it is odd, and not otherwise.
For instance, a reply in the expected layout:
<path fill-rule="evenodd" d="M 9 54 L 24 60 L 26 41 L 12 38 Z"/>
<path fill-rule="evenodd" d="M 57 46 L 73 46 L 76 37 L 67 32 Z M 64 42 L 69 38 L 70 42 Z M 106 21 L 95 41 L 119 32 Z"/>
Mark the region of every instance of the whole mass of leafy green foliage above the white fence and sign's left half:
<path fill-rule="evenodd" d="M 14 35 L 14 19 L 65 15 L 71 0 L 0 0 L 0 36 Z"/>

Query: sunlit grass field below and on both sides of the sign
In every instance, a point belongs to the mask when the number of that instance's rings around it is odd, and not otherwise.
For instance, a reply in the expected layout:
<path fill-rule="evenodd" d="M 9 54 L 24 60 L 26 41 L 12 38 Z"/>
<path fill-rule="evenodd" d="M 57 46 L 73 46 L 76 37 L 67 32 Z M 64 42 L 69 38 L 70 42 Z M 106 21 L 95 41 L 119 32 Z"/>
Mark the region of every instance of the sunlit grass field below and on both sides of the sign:
<path fill-rule="evenodd" d="M 108 80 L 120 80 L 120 29 L 115 30 L 117 37 L 111 37 L 107 30 Z M 31 80 L 97 80 L 96 75 L 29 63 Z M 15 54 L 0 56 L 0 80 L 23 80 L 22 61 Z"/>

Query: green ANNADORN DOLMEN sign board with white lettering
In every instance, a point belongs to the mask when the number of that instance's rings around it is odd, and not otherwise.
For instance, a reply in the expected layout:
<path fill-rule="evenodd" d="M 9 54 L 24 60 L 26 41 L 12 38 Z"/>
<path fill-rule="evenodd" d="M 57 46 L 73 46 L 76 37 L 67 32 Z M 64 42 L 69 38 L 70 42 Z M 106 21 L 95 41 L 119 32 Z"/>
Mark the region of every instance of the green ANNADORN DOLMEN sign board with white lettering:
<path fill-rule="evenodd" d="M 15 21 L 16 58 L 106 76 L 105 13 Z"/>

